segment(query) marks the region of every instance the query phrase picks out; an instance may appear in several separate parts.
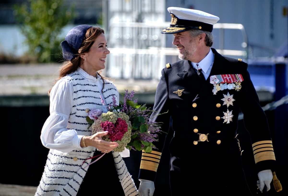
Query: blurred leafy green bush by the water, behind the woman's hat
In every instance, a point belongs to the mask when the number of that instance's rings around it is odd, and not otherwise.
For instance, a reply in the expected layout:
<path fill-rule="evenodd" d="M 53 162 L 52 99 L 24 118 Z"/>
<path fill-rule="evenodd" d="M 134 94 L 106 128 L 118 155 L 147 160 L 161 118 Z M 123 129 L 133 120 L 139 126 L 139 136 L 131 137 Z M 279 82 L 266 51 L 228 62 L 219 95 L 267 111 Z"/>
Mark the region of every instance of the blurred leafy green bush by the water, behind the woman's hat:
<path fill-rule="evenodd" d="M 63 6 L 63 0 L 28 0 L 15 5 L 15 16 L 26 37 L 29 55 L 39 62 L 56 62 L 60 57 L 59 37 L 62 28 L 74 17 L 74 9 Z"/>

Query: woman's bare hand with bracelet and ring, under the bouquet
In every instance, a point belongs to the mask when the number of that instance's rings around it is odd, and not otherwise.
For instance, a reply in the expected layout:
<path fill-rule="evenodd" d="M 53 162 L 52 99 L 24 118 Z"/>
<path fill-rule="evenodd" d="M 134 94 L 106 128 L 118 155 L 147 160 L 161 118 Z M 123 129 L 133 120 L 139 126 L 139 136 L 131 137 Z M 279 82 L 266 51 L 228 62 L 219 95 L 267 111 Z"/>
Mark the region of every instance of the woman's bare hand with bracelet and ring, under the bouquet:
<path fill-rule="evenodd" d="M 100 150 L 102 153 L 109 153 L 113 151 L 114 148 L 118 146 L 116 142 L 107 142 L 102 140 L 102 136 L 105 136 L 108 134 L 108 131 L 103 132 L 97 132 L 92 136 L 86 136 L 85 137 L 85 145 L 86 146 L 94 146 L 98 150 Z M 81 147 L 82 142 L 81 142 Z"/>

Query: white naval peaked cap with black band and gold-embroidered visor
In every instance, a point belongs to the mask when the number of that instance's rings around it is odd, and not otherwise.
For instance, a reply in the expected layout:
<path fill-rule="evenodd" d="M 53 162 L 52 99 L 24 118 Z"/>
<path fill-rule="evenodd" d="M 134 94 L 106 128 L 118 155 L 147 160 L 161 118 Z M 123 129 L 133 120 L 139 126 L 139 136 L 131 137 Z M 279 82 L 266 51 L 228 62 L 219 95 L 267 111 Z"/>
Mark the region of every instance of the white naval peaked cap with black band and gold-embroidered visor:
<path fill-rule="evenodd" d="M 168 7 L 168 12 L 171 14 L 171 24 L 161 33 L 180 33 L 193 28 L 212 32 L 213 24 L 216 24 L 219 20 L 218 16 L 196 9 Z"/>

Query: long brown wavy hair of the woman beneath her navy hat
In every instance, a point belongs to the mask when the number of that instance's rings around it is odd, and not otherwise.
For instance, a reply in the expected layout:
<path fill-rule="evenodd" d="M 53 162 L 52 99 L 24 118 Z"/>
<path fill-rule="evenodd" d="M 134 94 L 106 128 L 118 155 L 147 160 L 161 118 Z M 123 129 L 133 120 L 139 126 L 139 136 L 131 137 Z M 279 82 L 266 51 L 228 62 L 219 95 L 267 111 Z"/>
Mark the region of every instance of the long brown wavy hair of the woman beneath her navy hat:
<path fill-rule="evenodd" d="M 71 61 L 65 61 L 63 62 L 62 66 L 60 67 L 59 70 L 59 77 L 55 79 L 54 84 L 60 80 L 62 77 L 64 77 L 67 74 L 70 74 L 74 71 L 77 70 L 77 68 L 83 64 L 83 59 L 80 57 L 81 54 L 87 53 L 90 50 L 90 47 L 93 45 L 95 39 L 101 35 L 101 33 L 104 34 L 104 30 L 100 27 L 90 27 L 87 31 L 86 34 L 83 38 L 83 41 L 80 45 L 80 48 L 78 50 L 76 55 L 76 58 L 71 59 Z M 102 78 L 103 80 L 103 88 L 104 88 L 104 79 L 105 77 L 101 76 L 99 73 L 98 75 Z M 102 88 L 102 93 L 103 93 L 103 88 Z M 52 89 L 52 88 L 51 88 Z M 48 91 L 48 95 L 50 95 L 51 89 Z"/>

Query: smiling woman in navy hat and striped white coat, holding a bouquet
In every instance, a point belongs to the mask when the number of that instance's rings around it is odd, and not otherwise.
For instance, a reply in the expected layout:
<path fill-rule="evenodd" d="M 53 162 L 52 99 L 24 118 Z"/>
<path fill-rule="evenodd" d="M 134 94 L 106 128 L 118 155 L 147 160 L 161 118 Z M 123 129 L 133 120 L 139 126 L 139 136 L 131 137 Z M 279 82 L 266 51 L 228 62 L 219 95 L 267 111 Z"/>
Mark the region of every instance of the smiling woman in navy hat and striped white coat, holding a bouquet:
<path fill-rule="evenodd" d="M 119 101 L 115 85 L 97 73 L 110 53 L 103 29 L 76 26 L 61 47 L 66 62 L 49 92 L 50 116 L 41 141 L 50 151 L 35 195 L 138 195 L 122 157 L 111 152 L 118 144 L 101 139 L 107 132 L 91 135 L 86 122 L 87 109 L 107 112 L 101 97 L 107 105 L 113 96 Z M 89 165 L 88 158 L 100 151 L 106 154 Z"/>

